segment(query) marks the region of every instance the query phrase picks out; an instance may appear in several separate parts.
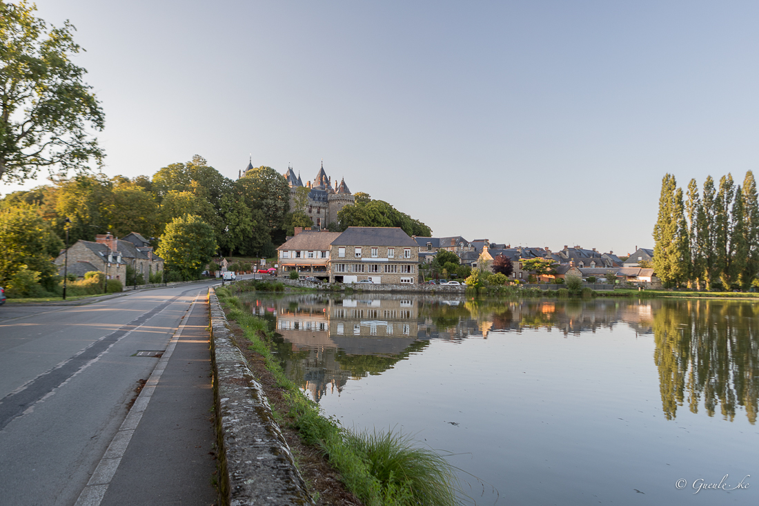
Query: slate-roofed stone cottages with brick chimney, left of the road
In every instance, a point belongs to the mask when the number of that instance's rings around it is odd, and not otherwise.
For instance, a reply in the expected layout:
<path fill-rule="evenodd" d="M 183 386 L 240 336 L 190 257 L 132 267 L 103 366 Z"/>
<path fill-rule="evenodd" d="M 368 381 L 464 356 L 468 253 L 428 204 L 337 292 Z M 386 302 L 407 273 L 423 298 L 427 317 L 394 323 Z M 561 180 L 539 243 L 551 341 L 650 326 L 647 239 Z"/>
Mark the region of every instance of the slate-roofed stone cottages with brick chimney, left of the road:
<path fill-rule="evenodd" d="M 129 236 L 140 236 L 132 232 Z M 143 238 L 144 239 L 144 238 Z M 55 258 L 58 272 L 62 275 L 65 264 L 65 250 Z M 83 266 L 77 264 L 83 263 Z M 69 270 L 77 276 L 90 270 L 99 270 L 109 280 L 126 280 L 127 265 L 134 267 L 137 274 L 143 274 L 145 280 L 149 274 L 163 270 L 163 259 L 153 253 L 151 246 L 137 246 L 133 242 L 119 240 L 111 233 L 95 236 L 95 242 L 79 240 L 68 248 Z M 72 270 L 72 266 L 76 266 Z"/>

